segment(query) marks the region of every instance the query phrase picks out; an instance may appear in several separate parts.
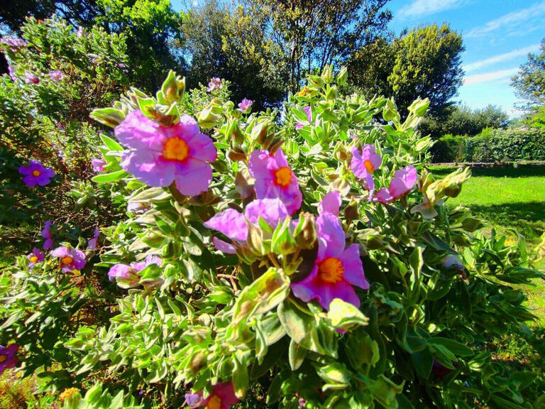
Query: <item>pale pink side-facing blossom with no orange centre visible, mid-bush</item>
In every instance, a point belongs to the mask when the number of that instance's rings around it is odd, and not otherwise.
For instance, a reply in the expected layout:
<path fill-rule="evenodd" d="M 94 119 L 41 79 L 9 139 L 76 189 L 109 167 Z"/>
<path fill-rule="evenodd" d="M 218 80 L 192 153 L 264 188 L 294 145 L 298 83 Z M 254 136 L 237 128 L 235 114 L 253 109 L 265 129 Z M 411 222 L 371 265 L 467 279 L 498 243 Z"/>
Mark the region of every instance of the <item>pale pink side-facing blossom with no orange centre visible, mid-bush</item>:
<path fill-rule="evenodd" d="M 248 239 L 248 222 L 258 223 L 261 217 L 272 229 L 275 229 L 279 222 L 282 222 L 288 214 L 286 207 L 280 199 L 256 199 L 249 203 L 244 209 L 244 214 L 235 209 L 225 209 L 223 212 L 214 214 L 204 226 L 214 229 L 229 237 L 229 239 L 243 243 Z M 219 251 L 227 254 L 236 253 L 236 249 L 229 243 L 214 237 L 214 245 Z"/>

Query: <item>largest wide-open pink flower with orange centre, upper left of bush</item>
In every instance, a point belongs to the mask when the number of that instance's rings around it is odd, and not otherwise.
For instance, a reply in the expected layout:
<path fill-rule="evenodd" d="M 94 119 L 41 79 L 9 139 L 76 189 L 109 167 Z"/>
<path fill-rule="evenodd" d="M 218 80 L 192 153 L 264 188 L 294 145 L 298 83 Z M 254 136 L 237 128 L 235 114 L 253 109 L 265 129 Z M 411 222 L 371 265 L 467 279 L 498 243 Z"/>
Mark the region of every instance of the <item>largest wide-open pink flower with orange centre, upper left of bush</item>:
<path fill-rule="evenodd" d="M 115 133 L 131 148 L 123 153 L 121 166 L 138 180 L 153 187 L 175 182 L 186 196 L 208 190 L 212 180 L 209 162 L 216 160 L 217 151 L 191 116 L 182 116 L 172 126 L 160 126 L 141 111 L 132 111 Z"/>

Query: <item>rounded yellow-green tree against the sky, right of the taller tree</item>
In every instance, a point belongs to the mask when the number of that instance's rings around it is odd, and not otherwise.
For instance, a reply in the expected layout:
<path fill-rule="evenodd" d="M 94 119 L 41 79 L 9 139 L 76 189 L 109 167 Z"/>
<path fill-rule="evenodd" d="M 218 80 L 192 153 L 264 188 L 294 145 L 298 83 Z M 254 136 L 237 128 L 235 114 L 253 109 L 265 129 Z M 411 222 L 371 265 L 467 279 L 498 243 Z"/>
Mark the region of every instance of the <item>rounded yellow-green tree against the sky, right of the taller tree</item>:
<path fill-rule="evenodd" d="M 417 97 L 428 97 L 430 113 L 445 114 L 462 84 L 463 50 L 461 34 L 448 24 L 413 28 L 356 50 L 349 79 L 368 95 L 392 95 L 402 110 Z"/>

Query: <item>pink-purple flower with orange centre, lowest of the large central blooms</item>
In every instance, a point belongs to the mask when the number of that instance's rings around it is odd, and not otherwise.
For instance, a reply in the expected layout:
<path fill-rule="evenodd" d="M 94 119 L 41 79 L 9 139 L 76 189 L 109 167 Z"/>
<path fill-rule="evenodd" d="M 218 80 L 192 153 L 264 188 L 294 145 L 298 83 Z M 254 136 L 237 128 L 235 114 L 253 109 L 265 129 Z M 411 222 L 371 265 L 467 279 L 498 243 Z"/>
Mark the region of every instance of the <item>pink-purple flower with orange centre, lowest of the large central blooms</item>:
<path fill-rule="evenodd" d="M 309 275 L 292 283 L 294 295 L 304 302 L 318 300 L 325 310 L 334 298 L 360 306 L 360 299 L 353 285 L 368 289 L 369 283 L 363 273 L 358 244 L 345 249 L 345 236 L 338 217 L 329 212 L 316 218 L 318 254 Z"/>

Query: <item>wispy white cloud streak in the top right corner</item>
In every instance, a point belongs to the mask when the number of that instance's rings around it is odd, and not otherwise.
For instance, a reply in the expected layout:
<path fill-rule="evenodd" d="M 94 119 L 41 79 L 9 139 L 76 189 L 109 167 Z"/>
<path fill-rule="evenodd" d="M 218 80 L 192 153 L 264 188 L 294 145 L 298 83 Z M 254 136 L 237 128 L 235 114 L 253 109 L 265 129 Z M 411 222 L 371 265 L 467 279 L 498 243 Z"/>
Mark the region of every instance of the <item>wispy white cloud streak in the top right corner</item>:
<path fill-rule="evenodd" d="M 469 33 L 466 34 L 466 38 L 484 37 L 493 31 L 502 30 L 503 36 L 521 35 L 534 31 L 536 28 L 543 26 L 545 14 L 545 1 L 534 4 L 534 6 L 527 9 L 520 9 L 518 11 L 512 11 L 499 18 L 488 21 L 483 26 L 472 28 Z M 525 30 L 520 30 L 520 25 L 524 24 Z"/>

